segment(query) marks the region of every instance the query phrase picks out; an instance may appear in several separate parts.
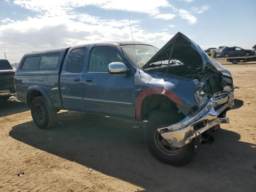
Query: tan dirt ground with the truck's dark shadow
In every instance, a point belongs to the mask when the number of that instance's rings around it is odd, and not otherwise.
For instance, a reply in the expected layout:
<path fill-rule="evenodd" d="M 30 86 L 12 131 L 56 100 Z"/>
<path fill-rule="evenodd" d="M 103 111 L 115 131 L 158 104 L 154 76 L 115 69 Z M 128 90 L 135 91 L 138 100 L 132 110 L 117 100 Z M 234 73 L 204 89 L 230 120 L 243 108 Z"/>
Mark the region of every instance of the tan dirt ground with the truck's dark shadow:
<path fill-rule="evenodd" d="M 61 111 L 40 130 L 25 104 L 1 101 L 0 191 L 255 192 L 256 62 L 225 66 L 239 87 L 230 124 L 183 167 L 156 160 L 136 122 Z"/>

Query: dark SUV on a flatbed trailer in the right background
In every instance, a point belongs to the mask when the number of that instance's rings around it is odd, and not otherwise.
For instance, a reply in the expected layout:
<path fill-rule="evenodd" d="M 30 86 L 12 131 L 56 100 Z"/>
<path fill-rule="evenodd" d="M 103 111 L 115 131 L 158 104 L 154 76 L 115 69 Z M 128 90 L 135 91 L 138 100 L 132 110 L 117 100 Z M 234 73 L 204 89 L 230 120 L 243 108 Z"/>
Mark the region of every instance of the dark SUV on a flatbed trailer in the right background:
<path fill-rule="evenodd" d="M 220 57 L 230 57 L 230 56 L 250 56 L 254 52 L 248 49 L 242 49 L 240 47 L 228 47 L 220 51 Z"/>

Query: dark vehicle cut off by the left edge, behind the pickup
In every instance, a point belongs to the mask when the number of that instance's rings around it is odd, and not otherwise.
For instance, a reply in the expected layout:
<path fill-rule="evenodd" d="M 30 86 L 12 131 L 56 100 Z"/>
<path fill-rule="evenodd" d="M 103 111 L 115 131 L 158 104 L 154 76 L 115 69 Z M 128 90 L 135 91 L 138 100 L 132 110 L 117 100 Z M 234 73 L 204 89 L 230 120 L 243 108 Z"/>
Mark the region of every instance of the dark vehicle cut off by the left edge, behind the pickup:
<path fill-rule="evenodd" d="M 9 61 L 0 59 L 0 99 L 8 99 L 15 94 L 14 74 Z"/>

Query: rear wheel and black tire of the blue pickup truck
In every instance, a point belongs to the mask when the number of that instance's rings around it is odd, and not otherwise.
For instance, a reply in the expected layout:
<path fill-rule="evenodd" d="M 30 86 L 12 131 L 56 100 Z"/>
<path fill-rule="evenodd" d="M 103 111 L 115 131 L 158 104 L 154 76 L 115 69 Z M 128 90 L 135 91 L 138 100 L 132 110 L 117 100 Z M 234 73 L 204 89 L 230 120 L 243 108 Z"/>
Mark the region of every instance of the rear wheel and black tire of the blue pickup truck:
<path fill-rule="evenodd" d="M 41 129 L 48 129 L 57 122 L 57 110 L 49 108 L 43 96 L 32 100 L 31 115 L 36 126 Z"/>

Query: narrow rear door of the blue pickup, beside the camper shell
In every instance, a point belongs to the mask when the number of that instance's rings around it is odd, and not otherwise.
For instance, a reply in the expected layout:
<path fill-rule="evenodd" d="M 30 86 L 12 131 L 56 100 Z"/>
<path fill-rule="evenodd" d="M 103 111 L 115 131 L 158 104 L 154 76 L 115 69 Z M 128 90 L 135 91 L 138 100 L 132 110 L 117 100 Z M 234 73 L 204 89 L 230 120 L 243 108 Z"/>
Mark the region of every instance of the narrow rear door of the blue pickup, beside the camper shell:
<path fill-rule="evenodd" d="M 69 50 L 60 75 L 60 92 L 65 109 L 84 110 L 82 73 L 86 47 Z"/>

